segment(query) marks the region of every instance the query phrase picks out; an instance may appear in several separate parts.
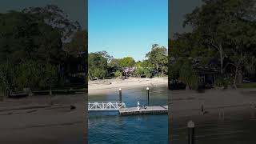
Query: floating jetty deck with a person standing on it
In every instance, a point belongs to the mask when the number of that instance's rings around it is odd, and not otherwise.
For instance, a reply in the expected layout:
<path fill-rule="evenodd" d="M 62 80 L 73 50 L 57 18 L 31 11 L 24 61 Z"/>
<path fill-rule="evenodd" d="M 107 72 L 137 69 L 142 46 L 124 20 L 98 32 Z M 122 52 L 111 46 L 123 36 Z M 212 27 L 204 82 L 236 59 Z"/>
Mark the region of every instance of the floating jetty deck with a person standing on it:
<path fill-rule="evenodd" d="M 119 110 L 120 115 L 138 115 L 138 114 L 168 114 L 168 106 L 146 106 L 146 108 L 130 107 Z"/>

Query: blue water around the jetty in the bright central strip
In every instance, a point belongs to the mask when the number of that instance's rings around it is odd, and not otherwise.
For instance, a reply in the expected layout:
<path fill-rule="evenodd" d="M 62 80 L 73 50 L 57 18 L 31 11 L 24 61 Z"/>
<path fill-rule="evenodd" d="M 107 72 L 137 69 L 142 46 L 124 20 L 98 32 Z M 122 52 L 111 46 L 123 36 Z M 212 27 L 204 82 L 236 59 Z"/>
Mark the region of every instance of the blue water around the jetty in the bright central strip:
<path fill-rule="evenodd" d="M 166 87 L 150 88 L 150 105 L 167 105 Z M 118 101 L 116 92 L 89 95 L 89 101 Z M 146 106 L 146 88 L 122 90 L 127 107 Z M 168 143 L 168 115 L 119 116 L 118 112 L 90 112 L 88 141 L 92 143 Z"/>

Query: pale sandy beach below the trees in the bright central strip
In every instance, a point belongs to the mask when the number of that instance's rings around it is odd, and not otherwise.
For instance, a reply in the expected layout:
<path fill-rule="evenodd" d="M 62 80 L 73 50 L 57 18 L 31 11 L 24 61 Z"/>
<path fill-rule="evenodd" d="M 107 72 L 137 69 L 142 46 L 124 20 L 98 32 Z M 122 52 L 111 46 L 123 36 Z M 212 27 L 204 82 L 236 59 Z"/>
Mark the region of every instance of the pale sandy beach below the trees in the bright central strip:
<path fill-rule="evenodd" d="M 102 94 L 108 91 L 126 89 L 130 87 L 146 87 L 146 86 L 167 86 L 168 78 L 127 78 L 127 79 L 106 79 L 89 81 L 89 94 Z"/>

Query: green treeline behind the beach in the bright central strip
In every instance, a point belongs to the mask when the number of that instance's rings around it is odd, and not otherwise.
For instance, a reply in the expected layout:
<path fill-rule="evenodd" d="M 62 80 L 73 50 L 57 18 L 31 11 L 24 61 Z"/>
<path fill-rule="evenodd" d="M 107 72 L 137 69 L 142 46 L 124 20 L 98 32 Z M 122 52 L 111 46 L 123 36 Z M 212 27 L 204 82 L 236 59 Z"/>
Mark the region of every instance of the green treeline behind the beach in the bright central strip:
<path fill-rule="evenodd" d="M 167 49 L 154 44 L 146 54 L 146 60 L 135 62 L 134 58 L 113 58 L 106 51 L 89 54 L 89 78 L 106 78 L 122 76 L 151 77 L 152 74 L 167 74 Z"/>

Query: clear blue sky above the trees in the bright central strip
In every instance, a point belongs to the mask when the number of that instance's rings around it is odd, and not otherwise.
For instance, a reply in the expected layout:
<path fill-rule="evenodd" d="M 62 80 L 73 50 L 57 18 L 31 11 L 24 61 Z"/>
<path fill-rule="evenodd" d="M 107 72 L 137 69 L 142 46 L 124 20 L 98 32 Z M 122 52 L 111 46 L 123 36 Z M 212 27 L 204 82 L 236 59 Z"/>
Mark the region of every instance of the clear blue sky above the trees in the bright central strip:
<path fill-rule="evenodd" d="M 89 52 L 145 59 L 151 45 L 168 45 L 168 0 L 88 0 Z"/>

